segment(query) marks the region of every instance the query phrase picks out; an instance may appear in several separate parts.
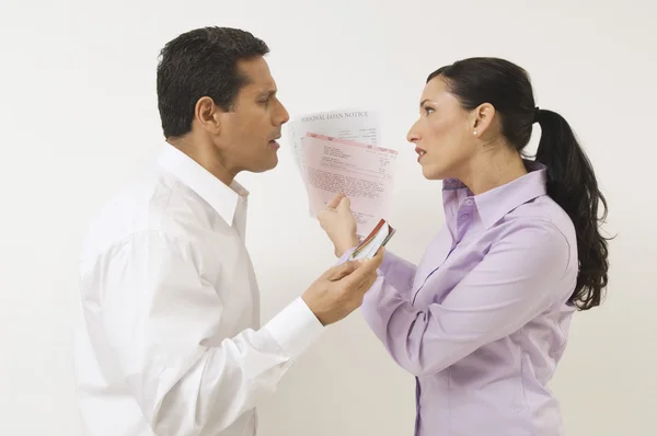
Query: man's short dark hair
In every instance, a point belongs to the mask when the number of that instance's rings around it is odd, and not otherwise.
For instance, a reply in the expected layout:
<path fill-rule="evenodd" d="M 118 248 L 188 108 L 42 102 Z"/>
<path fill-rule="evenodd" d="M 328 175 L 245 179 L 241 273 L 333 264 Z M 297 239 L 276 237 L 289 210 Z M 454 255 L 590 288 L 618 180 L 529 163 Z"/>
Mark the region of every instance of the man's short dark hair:
<path fill-rule="evenodd" d="M 158 65 L 158 108 L 164 137 L 180 137 L 192 129 L 194 107 L 203 96 L 230 111 L 246 84 L 238 61 L 267 53 L 263 41 L 230 27 L 197 28 L 169 42 Z"/>

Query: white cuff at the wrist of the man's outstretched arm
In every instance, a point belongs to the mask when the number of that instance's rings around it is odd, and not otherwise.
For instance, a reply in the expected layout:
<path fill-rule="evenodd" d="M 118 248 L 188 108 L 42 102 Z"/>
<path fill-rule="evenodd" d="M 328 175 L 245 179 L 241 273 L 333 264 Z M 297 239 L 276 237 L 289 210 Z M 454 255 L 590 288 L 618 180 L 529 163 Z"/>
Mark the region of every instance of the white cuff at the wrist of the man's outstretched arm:
<path fill-rule="evenodd" d="M 265 329 L 291 359 L 303 354 L 325 330 L 301 297 L 278 312 Z"/>

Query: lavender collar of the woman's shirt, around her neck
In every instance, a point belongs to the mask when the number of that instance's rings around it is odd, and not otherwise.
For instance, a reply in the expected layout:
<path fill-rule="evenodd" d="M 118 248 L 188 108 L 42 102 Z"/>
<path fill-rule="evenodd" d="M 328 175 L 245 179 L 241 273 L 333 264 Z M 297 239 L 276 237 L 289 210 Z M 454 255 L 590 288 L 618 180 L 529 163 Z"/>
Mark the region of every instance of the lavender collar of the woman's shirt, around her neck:
<path fill-rule="evenodd" d="M 540 162 L 523 160 L 528 173 L 483 194 L 474 195 L 476 208 L 486 229 L 499 221 L 516 207 L 546 194 L 546 168 Z M 442 183 L 445 194 L 449 191 L 468 187 L 458 179 L 448 179 Z M 469 195 L 472 196 L 470 190 Z M 443 195 L 445 195 L 443 194 Z M 453 198 L 452 196 L 447 196 Z"/>

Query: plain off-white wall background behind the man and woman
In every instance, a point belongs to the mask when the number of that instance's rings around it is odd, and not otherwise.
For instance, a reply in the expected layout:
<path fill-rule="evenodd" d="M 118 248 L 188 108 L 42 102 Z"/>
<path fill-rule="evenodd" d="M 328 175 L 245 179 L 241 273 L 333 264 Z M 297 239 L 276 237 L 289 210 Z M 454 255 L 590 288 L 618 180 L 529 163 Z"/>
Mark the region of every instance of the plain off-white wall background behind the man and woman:
<path fill-rule="evenodd" d="M 586 147 L 610 203 L 606 229 L 616 234 L 604 306 L 575 317 L 552 383 L 567 434 L 655 434 L 655 16 L 648 0 L 3 0 L 0 434 L 81 435 L 71 366 L 81 236 L 161 144 L 160 48 L 204 25 L 246 28 L 268 43 L 292 115 L 382 112 L 383 145 L 401 151 L 389 217 L 399 233 L 389 249 L 412 261 L 442 223 L 440 183 L 422 177 L 405 141 L 425 77 L 470 56 L 527 68 L 538 104 L 562 113 Z M 287 145 L 275 171 L 239 179 L 252 192 L 247 243 L 264 320 L 334 261 Z M 411 435 L 413 420 L 413 378 L 357 311 L 262 403 L 261 434 Z"/>

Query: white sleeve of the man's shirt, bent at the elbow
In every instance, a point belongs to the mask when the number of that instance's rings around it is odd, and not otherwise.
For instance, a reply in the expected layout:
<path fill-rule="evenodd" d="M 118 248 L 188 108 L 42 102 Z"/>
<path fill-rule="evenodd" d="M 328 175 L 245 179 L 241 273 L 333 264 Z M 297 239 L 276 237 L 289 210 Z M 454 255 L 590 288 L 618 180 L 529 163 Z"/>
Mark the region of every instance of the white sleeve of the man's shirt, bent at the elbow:
<path fill-rule="evenodd" d="M 220 297 L 228 292 L 199 275 L 196 255 L 191 246 L 148 232 L 134 236 L 99 265 L 103 331 L 158 435 L 226 429 L 276 390 L 323 331 L 298 298 L 262 329 L 235 332 L 231 319 L 239 314 Z"/>

